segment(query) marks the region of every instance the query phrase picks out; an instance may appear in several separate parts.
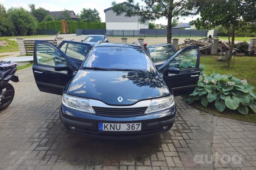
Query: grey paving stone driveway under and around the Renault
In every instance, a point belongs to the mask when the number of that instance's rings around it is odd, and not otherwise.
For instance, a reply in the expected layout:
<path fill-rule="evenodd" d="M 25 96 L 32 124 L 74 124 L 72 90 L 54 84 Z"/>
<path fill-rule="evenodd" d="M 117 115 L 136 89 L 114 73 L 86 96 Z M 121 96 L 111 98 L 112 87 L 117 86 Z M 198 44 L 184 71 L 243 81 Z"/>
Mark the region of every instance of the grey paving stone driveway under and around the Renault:
<path fill-rule="evenodd" d="M 84 137 L 65 130 L 61 96 L 39 92 L 32 68 L 17 75 L 14 101 L 0 112 L 2 170 L 255 170 L 253 124 L 213 117 L 178 97 L 167 133 L 136 140 Z"/>

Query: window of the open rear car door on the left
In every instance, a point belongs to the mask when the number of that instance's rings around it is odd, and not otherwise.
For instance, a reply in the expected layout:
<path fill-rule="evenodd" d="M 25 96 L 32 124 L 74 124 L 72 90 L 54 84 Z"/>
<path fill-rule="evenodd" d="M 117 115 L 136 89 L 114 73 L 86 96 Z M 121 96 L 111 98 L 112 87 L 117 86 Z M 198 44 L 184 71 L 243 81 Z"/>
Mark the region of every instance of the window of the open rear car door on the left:
<path fill-rule="evenodd" d="M 71 58 L 75 58 L 83 61 L 87 54 L 87 48 L 88 48 L 87 46 L 82 44 L 68 43 L 68 47 L 66 48 L 66 55 Z"/>

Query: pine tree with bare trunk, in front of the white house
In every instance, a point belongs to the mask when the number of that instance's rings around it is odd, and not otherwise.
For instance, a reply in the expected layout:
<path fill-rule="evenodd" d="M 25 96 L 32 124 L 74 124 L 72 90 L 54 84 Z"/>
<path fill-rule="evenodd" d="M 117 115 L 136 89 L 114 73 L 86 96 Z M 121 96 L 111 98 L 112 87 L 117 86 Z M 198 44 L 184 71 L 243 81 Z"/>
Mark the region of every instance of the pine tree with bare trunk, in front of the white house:
<path fill-rule="evenodd" d="M 140 16 L 140 21 L 154 21 L 165 17 L 167 21 L 167 43 L 172 43 L 172 19 L 178 16 L 194 14 L 198 5 L 195 0 L 144 0 L 145 5 L 135 4 L 135 0 L 127 0 L 128 3 L 112 2 L 112 10 L 116 15 L 122 13 L 127 17 Z"/>

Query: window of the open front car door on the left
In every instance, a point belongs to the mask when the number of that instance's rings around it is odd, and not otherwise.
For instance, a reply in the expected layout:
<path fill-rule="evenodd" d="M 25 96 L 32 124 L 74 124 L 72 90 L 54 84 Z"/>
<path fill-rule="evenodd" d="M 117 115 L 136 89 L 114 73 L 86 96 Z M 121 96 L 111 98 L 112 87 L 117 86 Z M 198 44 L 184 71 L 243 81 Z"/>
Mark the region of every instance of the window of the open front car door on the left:
<path fill-rule="evenodd" d="M 38 43 L 36 47 L 36 59 L 38 64 L 56 66 L 67 65 L 66 59 L 53 47 Z"/>

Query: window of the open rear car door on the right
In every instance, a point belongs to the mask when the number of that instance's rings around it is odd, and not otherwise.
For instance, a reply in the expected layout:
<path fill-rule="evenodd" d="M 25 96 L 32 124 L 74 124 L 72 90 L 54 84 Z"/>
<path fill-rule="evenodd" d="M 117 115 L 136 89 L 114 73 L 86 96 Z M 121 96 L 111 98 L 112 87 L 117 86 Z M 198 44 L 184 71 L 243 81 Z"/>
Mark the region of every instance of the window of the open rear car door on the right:
<path fill-rule="evenodd" d="M 170 46 L 149 47 L 149 53 L 153 62 L 159 62 L 169 59 L 174 51 Z"/>

